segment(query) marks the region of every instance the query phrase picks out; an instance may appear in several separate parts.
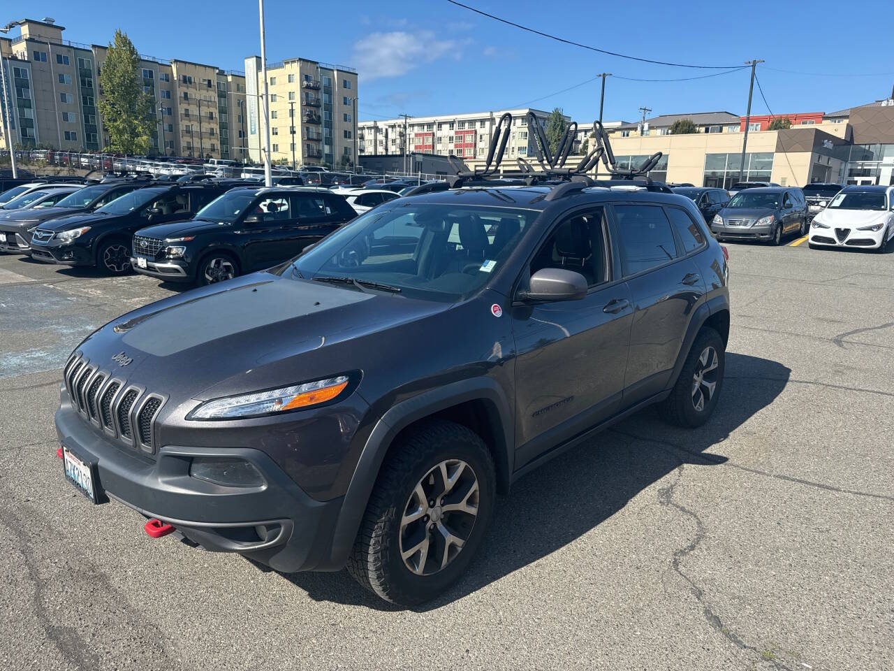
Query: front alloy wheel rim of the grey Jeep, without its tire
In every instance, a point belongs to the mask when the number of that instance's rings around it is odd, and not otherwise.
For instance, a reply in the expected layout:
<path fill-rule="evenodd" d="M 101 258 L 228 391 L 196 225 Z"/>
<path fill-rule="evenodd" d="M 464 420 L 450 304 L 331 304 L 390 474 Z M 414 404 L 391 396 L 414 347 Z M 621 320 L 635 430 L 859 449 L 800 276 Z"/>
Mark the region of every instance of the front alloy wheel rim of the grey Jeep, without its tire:
<path fill-rule="evenodd" d="M 417 575 L 442 571 L 465 546 L 478 515 L 478 479 L 468 463 L 447 459 L 417 482 L 401 516 L 404 565 Z"/>

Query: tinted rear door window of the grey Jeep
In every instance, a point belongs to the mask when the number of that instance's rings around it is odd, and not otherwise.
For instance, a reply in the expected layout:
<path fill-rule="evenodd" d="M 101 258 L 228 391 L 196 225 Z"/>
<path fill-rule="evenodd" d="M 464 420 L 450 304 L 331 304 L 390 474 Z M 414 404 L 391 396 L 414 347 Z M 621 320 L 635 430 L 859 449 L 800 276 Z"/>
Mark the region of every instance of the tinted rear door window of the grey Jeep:
<path fill-rule="evenodd" d="M 671 222 L 656 205 L 615 206 L 624 276 L 661 266 L 677 258 Z"/>

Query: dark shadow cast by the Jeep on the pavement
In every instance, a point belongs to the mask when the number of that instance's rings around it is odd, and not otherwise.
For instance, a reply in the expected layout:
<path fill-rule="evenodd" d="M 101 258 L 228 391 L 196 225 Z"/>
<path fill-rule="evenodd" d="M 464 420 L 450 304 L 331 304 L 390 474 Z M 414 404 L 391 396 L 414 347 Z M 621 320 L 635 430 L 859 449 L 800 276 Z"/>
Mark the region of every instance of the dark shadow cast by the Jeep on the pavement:
<path fill-rule="evenodd" d="M 526 475 L 513 484 L 509 497 L 498 502 L 485 545 L 466 576 L 417 610 L 461 599 L 550 555 L 618 513 L 631 498 L 683 463 L 725 463 L 725 457 L 709 450 L 770 405 L 787 385 L 790 372 L 777 361 L 727 352 L 721 399 L 703 427 L 672 427 L 655 408 L 646 409 Z M 361 588 L 345 571 L 283 577 L 312 599 L 400 609 Z"/>

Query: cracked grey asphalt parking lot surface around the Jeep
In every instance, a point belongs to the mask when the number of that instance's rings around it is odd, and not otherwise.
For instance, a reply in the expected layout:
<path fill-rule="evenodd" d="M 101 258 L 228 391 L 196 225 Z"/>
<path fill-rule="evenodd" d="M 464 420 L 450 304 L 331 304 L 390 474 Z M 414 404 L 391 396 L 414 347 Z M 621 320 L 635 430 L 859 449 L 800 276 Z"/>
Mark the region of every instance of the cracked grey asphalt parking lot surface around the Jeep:
<path fill-rule="evenodd" d="M 894 253 L 728 244 L 725 387 L 520 480 L 417 611 L 149 539 L 63 480 L 63 362 L 163 297 L 0 255 L 0 668 L 894 667 Z"/>

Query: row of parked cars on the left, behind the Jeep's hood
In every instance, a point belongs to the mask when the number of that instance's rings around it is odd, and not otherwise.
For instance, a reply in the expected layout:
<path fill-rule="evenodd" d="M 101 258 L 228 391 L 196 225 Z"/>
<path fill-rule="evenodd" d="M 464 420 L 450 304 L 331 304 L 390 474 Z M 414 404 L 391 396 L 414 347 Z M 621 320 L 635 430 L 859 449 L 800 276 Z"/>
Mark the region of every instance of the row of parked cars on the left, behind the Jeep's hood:
<path fill-rule="evenodd" d="M 136 270 L 208 285 L 270 268 L 411 188 L 398 181 L 323 189 L 291 183 L 112 177 L 24 183 L 0 194 L 0 251 L 109 275 Z"/>

